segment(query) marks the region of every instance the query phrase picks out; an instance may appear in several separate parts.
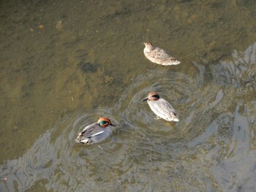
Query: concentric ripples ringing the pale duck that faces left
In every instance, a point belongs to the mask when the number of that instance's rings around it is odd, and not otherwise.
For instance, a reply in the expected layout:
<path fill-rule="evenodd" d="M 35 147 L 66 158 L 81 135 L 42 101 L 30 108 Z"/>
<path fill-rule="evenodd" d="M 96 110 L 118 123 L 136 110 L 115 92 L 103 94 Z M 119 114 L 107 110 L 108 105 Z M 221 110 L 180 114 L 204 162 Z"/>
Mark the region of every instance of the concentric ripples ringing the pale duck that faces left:
<path fill-rule="evenodd" d="M 166 138 L 173 142 L 185 142 L 192 139 L 200 133 L 200 130 L 198 132 L 192 130 L 194 115 L 205 110 L 201 105 L 203 96 L 198 97 L 198 94 L 201 94 L 199 90 L 201 91 L 200 88 L 203 86 L 205 68 L 195 64 L 195 70 L 197 74 L 191 77 L 165 69 L 157 69 L 140 75 L 133 80 L 132 85 L 121 96 L 115 108 L 121 111 L 122 116 L 137 128 L 136 131 L 142 131 L 145 134 L 154 133 L 152 137 L 158 134 L 161 140 Z M 157 91 L 162 98 L 173 105 L 178 112 L 180 122 L 155 119 L 156 116 L 154 112 L 151 112 L 147 102 L 142 101 L 152 91 Z M 208 92 L 207 89 L 205 94 L 214 95 Z M 212 99 L 212 97 L 207 96 L 207 99 Z M 199 115 L 198 117 L 200 118 Z"/>

